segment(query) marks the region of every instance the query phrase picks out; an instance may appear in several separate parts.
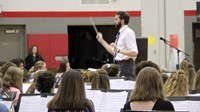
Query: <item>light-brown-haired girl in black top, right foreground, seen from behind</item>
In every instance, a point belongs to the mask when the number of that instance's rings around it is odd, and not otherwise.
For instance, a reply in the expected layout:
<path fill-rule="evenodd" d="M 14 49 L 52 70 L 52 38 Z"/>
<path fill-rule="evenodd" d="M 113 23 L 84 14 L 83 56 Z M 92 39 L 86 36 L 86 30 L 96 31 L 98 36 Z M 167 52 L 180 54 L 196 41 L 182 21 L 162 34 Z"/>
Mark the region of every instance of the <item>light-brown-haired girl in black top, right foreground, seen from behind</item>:
<path fill-rule="evenodd" d="M 138 73 L 135 89 L 132 91 L 130 101 L 124 105 L 124 112 L 126 110 L 174 111 L 172 103 L 164 99 L 160 73 L 155 68 L 145 67 Z"/>

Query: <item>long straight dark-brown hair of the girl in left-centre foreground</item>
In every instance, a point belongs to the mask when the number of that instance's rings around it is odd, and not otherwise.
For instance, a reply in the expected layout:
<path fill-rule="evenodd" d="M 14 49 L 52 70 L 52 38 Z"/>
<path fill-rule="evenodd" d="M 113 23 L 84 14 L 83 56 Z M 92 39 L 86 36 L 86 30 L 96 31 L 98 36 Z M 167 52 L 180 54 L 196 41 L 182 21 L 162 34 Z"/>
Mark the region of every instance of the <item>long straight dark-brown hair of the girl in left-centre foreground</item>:
<path fill-rule="evenodd" d="M 48 103 L 48 109 L 83 109 L 85 102 L 83 78 L 80 72 L 69 70 L 63 74 L 58 92 Z"/>

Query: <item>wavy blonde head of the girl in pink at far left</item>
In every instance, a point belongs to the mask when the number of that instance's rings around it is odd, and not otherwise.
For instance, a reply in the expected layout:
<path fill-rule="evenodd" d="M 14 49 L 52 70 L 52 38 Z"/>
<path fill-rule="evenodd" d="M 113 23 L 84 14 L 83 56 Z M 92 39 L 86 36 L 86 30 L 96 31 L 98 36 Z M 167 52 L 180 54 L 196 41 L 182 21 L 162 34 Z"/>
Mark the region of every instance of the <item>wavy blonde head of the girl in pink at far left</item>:
<path fill-rule="evenodd" d="M 22 83 L 23 83 L 22 70 L 16 66 L 9 67 L 3 77 L 3 87 L 5 88 L 15 87 L 22 92 Z"/>

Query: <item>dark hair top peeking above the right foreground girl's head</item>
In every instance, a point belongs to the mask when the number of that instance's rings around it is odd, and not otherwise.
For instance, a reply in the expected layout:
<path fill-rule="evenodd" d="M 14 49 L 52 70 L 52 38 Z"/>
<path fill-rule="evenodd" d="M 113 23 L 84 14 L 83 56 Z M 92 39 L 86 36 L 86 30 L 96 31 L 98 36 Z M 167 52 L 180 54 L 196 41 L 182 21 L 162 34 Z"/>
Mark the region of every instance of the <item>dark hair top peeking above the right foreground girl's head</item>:
<path fill-rule="evenodd" d="M 156 63 L 154 63 L 152 61 L 141 61 L 136 66 L 136 70 L 135 70 L 136 76 L 138 75 L 138 73 L 140 72 L 140 70 L 142 70 L 144 67 L 153 67 L 156 70 L 158 70 L 159 73 L 161 73 L 160 67 Z"/>

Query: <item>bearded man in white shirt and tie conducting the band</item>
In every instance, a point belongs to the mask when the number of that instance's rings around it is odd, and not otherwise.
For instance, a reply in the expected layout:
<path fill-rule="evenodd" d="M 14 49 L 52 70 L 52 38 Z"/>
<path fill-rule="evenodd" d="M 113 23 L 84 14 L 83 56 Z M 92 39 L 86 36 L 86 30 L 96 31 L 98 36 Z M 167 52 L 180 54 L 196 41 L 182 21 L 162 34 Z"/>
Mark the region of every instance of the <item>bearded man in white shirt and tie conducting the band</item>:
<path fill-rule="evenodd" d="M 115 62 L 119 64 L 119 76 L 125 77 L 133 76 L 134 60 L 138 54 L 135 33 L 128 27 L 129 19 L 127 12 L 119 11 L 116 13 L 114 23 L 119 32 L 115 42 L 108 44 L 100 32 L 96 36 L 99 43 L 114 56 Z"/>

